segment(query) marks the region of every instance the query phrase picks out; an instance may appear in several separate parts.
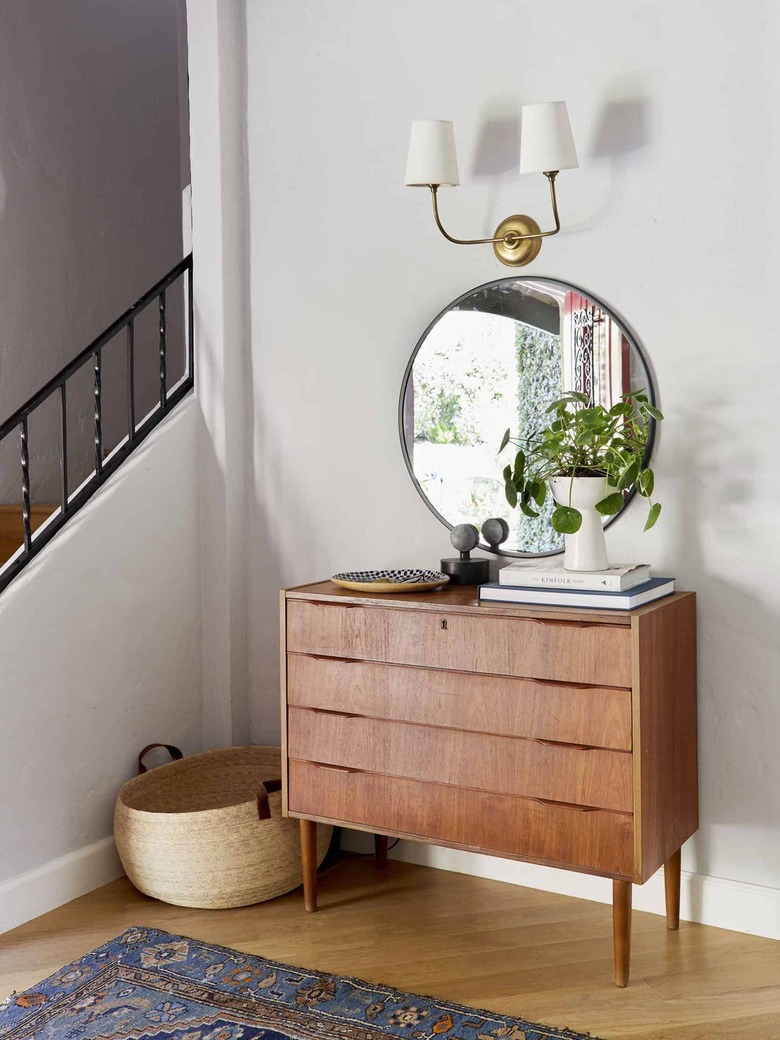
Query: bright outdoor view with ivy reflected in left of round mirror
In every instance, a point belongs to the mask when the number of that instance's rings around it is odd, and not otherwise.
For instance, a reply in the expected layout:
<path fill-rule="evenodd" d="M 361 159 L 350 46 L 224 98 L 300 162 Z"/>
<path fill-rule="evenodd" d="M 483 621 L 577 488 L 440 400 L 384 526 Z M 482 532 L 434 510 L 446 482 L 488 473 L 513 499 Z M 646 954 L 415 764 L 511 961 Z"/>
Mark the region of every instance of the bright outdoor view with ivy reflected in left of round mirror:
<path fill-rule="evenodd" d="M 414 363 L 405 432 L 415 475 L 431 504 L 452 523 L 510 524 L 511 546 L 544 552 L 558 536 L 549 518 L 510 509 L 496 454 L 506 427 L 519 437 L 544 422 L 562 388 L 557 301 L 534 301 L 548 328 L 505 313 L 450 311 L 431 330 Z M 530 312 L 528 313 L 530 316 Z M 508 456 L 509 458 L 509 456 Z"/>

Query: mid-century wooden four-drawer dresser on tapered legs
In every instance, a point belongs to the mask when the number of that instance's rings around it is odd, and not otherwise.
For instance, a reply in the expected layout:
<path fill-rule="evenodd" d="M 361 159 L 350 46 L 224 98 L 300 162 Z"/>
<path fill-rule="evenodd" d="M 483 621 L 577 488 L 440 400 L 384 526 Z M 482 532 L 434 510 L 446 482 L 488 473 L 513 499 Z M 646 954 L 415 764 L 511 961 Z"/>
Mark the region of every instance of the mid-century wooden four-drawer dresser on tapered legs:
<path fill-rule="evenodd" d="M 615 612 L 322 581 L 282 594 L 282 658 L 308 910 L 319 821 L 613 878 L 619 986 L 631 884 L 660 866 L 677 927 L 698 826 L 693 593 Z"/>

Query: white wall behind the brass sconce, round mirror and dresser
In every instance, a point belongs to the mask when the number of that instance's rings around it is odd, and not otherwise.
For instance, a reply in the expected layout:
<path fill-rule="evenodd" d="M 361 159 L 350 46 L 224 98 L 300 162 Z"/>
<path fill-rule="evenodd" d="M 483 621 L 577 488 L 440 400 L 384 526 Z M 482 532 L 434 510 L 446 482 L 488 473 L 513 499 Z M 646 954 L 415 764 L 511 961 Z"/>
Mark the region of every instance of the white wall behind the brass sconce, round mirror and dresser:
<path fill-rule="evenodd" d="M 402 187 L 409 123 L 456 121 L 464 186 L 442 192 L 443 212 L 456 234 L 489 234 L 509 213 L 546 214 L 546 183 L 515 176 L 509 145 L 523 103 L 566 98 L 581 170 L 558 181 L 565 233 L 525 272 L 590 289 L 628 319 L 667 415 L 661 522 L 643 536 L 632 509 L 608 545 L 700 596 L 702 826 L 683 855 L 687 913 L 780 935 L 780 503 L 765 475 L 780 368 L 777 6 L 757 0 L 747 18 L 726 0 L 608 0 L 587 16 L 575 0 L 266 0 L 245 11 L 246 110 L 238 98 L 227 114 L 248 127 L 253 739 L 278 735 L 281 586 L 435 566 L 449 550 L 401 459 L 399 383 L 431 318 L 511 271 L 489 249 L 446 243 L 427 193 Z M 193 156 L 214 161 L 194 109 L 191 131 Z M 197 228 L 219 200 L 193 204 Z"/>

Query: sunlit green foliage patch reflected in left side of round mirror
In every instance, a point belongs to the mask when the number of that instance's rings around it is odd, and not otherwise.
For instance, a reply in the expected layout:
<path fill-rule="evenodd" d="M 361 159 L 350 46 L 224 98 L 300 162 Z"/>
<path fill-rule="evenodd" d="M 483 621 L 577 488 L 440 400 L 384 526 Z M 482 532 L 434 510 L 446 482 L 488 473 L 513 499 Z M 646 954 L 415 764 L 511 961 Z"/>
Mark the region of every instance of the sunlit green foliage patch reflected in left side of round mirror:
<path fill-rule="evenodd" d="M 418 356 L 414 367 L 414 438 L 434 444 L 484 444 L 486 409 L 503 396 L 504 369 L 470 357 L 459 341 L 446 354 Z M 465 368 L 464 368 L 465 364 Z"/>

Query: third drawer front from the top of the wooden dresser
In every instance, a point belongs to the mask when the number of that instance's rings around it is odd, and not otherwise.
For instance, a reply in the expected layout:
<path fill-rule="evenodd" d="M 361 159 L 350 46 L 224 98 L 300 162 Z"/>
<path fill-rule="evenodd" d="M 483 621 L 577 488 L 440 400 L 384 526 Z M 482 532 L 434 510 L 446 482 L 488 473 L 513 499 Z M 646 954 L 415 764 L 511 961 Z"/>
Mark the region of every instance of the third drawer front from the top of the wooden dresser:
<path fill-rule="evenodd" d="M 290 708 L 291 758 L 503 795 L 631 811 L 631 755 Z"/>

